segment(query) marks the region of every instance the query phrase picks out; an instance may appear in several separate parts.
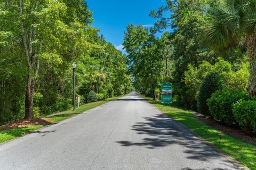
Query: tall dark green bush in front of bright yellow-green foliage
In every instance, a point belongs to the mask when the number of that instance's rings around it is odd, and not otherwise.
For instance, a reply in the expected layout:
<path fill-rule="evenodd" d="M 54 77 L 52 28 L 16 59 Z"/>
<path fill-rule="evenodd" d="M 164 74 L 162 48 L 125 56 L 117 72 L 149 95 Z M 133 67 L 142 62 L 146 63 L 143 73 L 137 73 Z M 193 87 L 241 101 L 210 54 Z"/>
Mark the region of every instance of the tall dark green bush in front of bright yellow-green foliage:
<path fill-rule="evenodd" d="M 212 116 L 207 106 L 207 99 L 211 98 L 212 93 L 220 90 L 223 81 L 217 72 L 208 74 L 202 83 L 197 99 L 197 111 L 206 116 Z"/>

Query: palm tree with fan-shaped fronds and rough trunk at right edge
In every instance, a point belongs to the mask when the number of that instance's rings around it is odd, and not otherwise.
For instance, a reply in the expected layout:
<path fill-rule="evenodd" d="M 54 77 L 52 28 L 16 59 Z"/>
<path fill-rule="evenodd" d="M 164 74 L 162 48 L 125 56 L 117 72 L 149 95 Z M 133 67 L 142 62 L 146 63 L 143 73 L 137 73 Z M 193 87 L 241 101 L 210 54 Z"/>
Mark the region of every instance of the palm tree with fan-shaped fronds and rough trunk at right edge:
<path fill-rule="evenodd" d="M 244 45 L 250 62 L 249 94 L 256 95 L 256 0 L 226 0 L 214 9 L 207 35 L 218 50 Z"/>

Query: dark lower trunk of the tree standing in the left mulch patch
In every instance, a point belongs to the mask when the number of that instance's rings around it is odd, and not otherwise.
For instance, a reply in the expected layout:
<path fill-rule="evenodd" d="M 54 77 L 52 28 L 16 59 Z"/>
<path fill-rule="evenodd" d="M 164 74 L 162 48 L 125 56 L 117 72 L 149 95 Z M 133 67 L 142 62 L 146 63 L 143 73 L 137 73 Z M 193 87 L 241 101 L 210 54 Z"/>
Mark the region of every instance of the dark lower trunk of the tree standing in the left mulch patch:
<path fill-rule="evenodd" d="M 25 98 L 25 119 L 33 119 L 33 103 L 34 103 L 34 80 L 28 76 L 28 84 L 26 86 L 26 98 Z"/>

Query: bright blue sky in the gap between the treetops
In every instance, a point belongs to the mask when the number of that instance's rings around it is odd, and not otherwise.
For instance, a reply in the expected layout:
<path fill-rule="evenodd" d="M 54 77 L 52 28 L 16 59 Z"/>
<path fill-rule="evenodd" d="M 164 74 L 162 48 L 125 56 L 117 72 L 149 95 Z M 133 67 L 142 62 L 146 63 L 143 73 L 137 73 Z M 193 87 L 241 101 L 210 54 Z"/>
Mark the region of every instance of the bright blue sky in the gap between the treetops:
<path fill-rule="evenodd" d="M 129 23 L 152 26 L 155 19 L 149 17 L 152 10 L 165 5 L 163 0 L 86 0 L 89 10 L 93 12 L 92 25 L 100 29 L 100 34 L 121 48 L 124 31 Z"/>

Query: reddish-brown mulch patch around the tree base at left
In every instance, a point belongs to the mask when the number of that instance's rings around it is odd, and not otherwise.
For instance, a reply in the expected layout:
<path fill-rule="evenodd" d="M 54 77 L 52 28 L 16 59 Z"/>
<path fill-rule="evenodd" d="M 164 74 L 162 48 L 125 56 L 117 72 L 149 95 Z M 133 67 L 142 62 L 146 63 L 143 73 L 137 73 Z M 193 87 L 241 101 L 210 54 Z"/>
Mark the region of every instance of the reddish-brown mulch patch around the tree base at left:
<path fill-rule="evenodd" d="M 13 122 L 7 125 L 0 126 L 1 130 L 11 129 L 11 128 L 18 128 L 18 127 L 26 127 L 28 125 L 44 125 L 47 123 L 52 122 L 51 119 L 47 118 L 34 118 L 34 119 L 23 119 L 17 122 Z"/>

